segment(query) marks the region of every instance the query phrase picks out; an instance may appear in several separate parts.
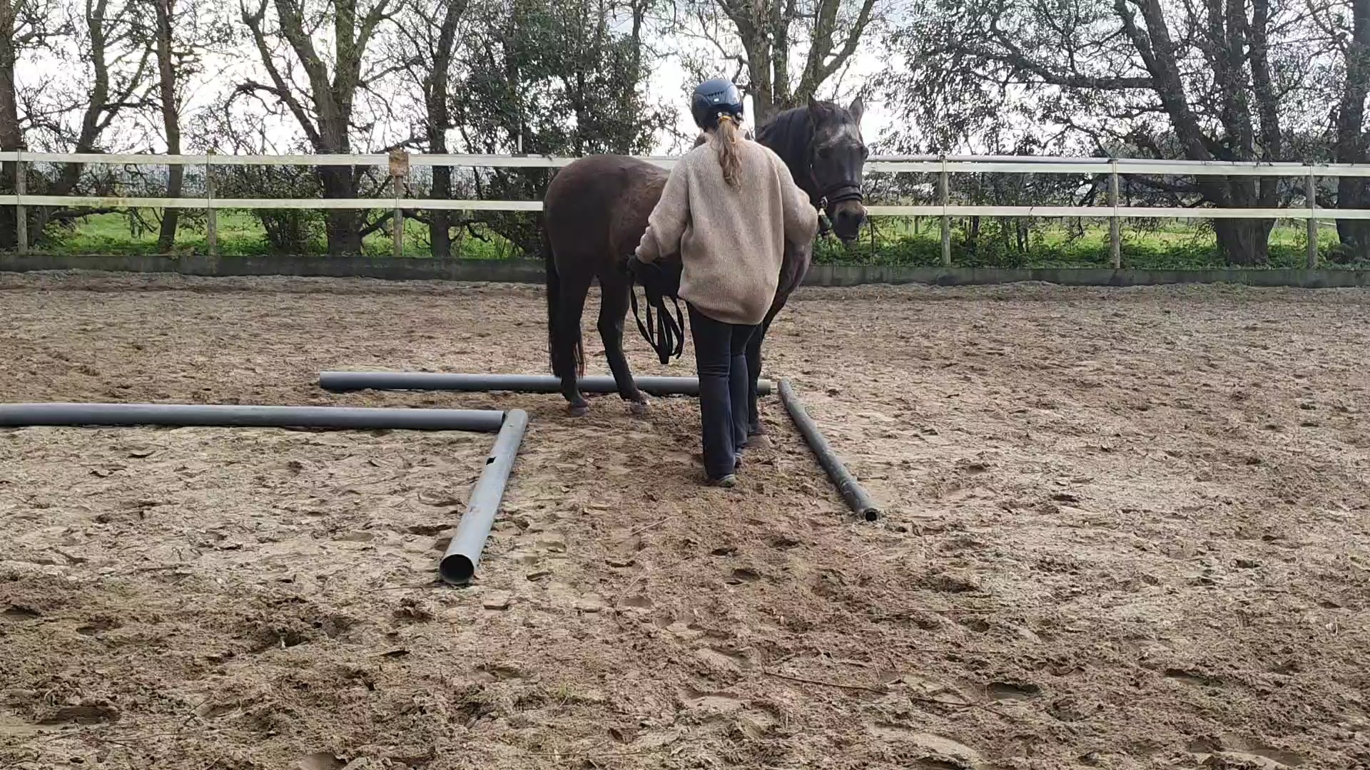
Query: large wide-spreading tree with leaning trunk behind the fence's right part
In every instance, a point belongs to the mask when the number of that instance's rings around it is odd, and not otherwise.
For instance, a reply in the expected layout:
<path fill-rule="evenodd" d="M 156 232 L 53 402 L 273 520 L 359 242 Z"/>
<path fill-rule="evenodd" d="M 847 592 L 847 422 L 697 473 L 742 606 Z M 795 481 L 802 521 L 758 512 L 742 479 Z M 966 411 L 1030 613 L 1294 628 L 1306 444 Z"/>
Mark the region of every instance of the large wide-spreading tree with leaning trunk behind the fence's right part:
<path fill-rule="evenodd" d="M 1304 22 L 1295 0 L 956 0 L 911 18 L 896 36 L 911 69 L 892 74 L 891 93 L 933 134 L 969 110 L 993 122 L 1003 100 L 1026 93 L 1037 121 L 1104 152 L 1289 159 L 1285 104 L 1307 70 L 1291 34 Z M 1277 177 L 1147 184 L 1237 208 L 1275 207 L 1282 189 Z M 1229 262 L 1263 264 L 1273 225 L 1218 219 L 1214 230 Z"/>

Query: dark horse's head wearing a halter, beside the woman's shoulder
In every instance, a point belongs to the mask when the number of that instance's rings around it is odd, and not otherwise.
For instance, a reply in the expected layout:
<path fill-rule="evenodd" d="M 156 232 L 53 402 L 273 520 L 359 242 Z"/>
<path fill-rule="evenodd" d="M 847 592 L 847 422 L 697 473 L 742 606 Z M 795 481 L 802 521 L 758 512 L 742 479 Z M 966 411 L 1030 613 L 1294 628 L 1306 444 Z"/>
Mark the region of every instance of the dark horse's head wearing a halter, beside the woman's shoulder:
<path fill-rule="evenodd" d="M 814 140 L 808 147 L 808 166 L 833 232 L 845 243 L 860 236 L 866 222 L 862 174 L 866 169 L 866 141 L 860 136 L 860 116 L 864 111 L 860 97 L 851 107 L 808 100 L 808 123 Z"/>

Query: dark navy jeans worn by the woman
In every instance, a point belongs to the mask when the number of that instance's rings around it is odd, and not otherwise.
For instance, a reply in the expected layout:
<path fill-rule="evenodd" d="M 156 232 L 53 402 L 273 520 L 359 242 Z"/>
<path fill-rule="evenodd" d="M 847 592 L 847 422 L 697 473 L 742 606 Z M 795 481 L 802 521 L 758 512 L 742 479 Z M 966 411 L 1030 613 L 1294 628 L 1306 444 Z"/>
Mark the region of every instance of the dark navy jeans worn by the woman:
<path fill-rule="evenodd" d="M 699 370 L 699 412 L 703 422 L 704 473 L 718 481 L 733 473 L 737 451 L 747 444 L 747 344 L 759 325 L 723 323 L 689 306 Z"/>

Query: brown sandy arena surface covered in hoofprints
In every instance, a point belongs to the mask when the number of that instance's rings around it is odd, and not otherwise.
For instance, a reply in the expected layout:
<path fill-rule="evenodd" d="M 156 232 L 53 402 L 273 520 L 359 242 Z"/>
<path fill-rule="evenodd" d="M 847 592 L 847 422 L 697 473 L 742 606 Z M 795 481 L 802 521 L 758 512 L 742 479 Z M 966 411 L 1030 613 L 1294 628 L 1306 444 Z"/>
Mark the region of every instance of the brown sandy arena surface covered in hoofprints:
<path fill-rule="evenodd" d="M 532 415 L 466 589 L 490 436 L 0 430 L 0 767 L 1370 767 L 1367 292 L 806 290 L 875 525 L 778 400 L 727 492 L 692 400 L 312 385 L 545 371 L 536 288 L 0 274 L 0 338 L 4 401 Z"/>

